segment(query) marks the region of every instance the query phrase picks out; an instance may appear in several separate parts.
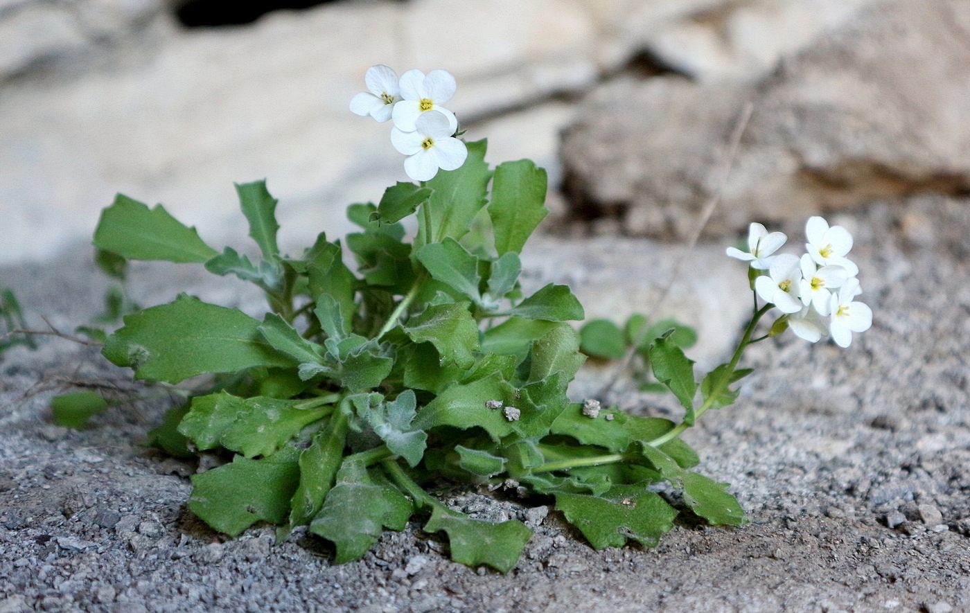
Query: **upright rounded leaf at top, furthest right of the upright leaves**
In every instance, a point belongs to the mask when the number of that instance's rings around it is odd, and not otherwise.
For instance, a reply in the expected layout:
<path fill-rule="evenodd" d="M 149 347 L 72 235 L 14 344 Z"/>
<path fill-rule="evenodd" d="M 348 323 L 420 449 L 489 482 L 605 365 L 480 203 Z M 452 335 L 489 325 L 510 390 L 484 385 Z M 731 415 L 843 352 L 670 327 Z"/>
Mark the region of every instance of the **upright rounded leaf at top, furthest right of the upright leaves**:
<path fill-rule="evenodd" d="M 503 162 L 495 169 L 488 212 L 499 255 L 521 252 L 535 227 L 549 213 L 544 206 L 546 183 L 545 169 L 536 168 L 532 160 Z"/>

